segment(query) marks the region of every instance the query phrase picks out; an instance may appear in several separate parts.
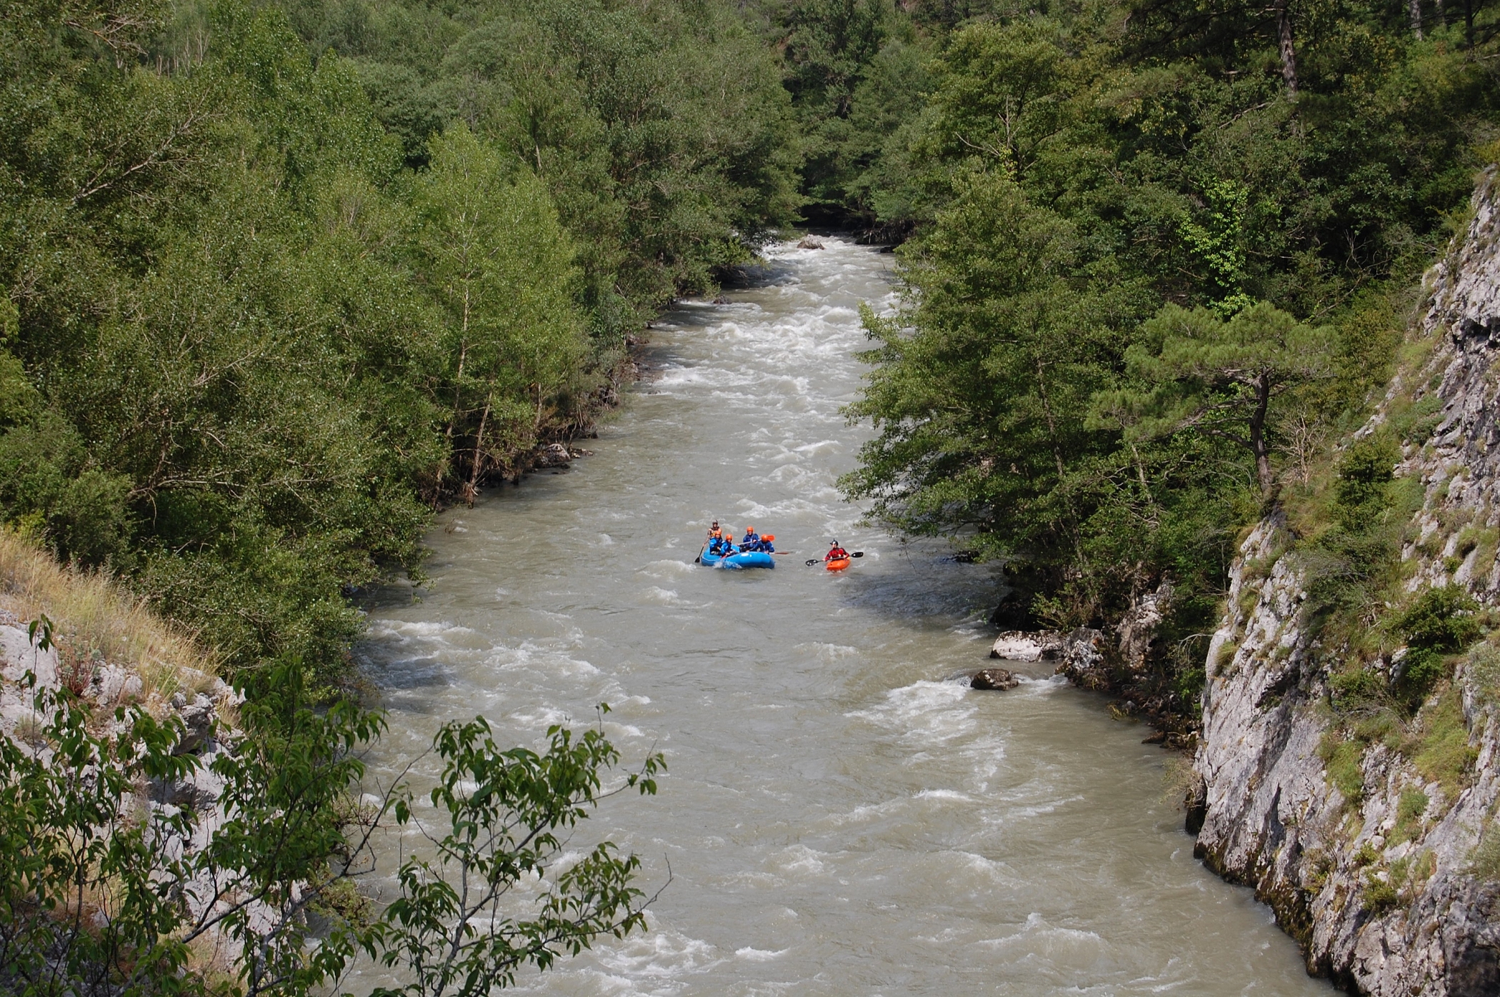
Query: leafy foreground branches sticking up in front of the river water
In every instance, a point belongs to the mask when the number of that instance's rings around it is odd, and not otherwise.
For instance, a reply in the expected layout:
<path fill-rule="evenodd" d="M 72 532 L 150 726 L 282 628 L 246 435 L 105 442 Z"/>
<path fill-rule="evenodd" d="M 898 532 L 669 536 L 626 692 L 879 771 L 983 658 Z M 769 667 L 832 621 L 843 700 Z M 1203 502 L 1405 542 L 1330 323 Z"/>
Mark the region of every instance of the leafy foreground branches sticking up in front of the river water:
<path fill-rule="evenodd" d="M 396 802 L 398 825 L 420 831 L 432 856 L 400 867 L 400 895 L 370 942 L 386 966 L 404 966 L 412 979 L 376 994 L 477 997 L 510 985 L 525 966 L 544 970 L 602 934 L 645 927 L 645 897 L 630 885 L 636 856 L 602 841 L 570 865 L 556 864 L 566 847 L 578 850 L 568 844 L 573 829 L 602 799 L 632 787 L 656 792 L 662 756 L 648 756 L 624 786 L 602 792 L 602 772 L 620 759 L 603 733 L 574 738 L 554 726 L 548 738 L 537 754 L 502 751 L 483 718 L 438 732 L 434 747 L 446 765 L 430 801 L 450 831 L 430 832 L 406 801 Z M 542 891 L 534 904 L 510 897 L 531 879 Z"/>

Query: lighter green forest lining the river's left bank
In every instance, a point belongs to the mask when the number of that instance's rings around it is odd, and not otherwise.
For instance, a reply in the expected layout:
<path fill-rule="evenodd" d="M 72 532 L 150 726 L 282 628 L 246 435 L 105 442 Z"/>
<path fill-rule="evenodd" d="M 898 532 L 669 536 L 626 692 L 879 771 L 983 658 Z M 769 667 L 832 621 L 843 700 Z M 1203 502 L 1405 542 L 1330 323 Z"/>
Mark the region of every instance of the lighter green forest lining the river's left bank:
<path fill-rule="evenodd" d="M 0 516 L 231 667 L 586 424 L 632 333 L 798 205 L 718 3 L 12 3 Z"/>

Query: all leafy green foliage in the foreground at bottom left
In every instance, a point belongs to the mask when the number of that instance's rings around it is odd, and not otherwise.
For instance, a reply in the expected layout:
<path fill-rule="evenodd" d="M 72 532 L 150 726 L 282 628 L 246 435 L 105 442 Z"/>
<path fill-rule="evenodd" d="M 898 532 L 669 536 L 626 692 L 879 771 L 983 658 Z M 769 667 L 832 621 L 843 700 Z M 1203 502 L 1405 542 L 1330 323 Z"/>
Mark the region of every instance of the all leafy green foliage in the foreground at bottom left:
<path fill-rule="evenodd" d="M 24 742 L 0 739 L 0 993 L 298 996 L 363 957 L 411 981 L 380 994 L 477 996 L 644 925 L 634 856 L 602 841 L 560 861 L 600 801 L 656 792 L 660 756 L 604 790 L 620 753 L 598 730 L 502 751 L 483 720 L 452 723 L 434 742 L 435 817 L 418 819 L 404 784 L 356 802 L 378 715 L 314 712 L 300 669 L 262 678 L 207 769 L 176 751 L 176 718 L 34 694 Z M 188 780 L 220 786 L 218 801 L 168 801 Z M 387 829 L 426 847 L 376 912 L 356 886 Z"/>

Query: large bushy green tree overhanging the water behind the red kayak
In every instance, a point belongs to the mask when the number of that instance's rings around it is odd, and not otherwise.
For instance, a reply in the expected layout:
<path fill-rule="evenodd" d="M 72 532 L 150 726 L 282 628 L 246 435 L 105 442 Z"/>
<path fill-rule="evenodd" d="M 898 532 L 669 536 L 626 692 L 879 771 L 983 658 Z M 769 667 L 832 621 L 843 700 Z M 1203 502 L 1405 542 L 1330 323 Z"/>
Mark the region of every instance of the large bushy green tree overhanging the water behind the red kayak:
<path fill-rule="evenodd" d="M 1076 231 L 1004 174 L 960 181 L 934 229 L 903 252 L 908 310 L 866 313 L 880 345 L 852 420 L 879 435 L 842 480 L 902 529 L 980 531 L 976 543 L 1053 564 L 1076 550 L 1070 468 L 1107 448 L 1084 426 L 1116 355 L 1130 289 L 1078 274 Z"/>

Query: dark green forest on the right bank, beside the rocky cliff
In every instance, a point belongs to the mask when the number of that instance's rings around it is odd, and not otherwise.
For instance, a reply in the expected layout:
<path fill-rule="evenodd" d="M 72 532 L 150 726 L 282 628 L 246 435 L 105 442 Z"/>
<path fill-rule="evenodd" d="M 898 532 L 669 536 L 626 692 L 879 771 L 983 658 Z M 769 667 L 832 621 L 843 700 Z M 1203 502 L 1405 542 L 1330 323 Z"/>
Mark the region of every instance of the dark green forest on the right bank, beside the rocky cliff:
<path fill-rule="evenodd" d="M 1368 460 L 1334 444 L 1384 391 L 1420 273 L 1500 151 L 1494 10 L 831 7 L 872 19 L 790 36 L 825 66 L 820 88 L 792 75 L 822 138 L 806 189 L 910 235 L 904 309 L 867 315 L 850 415 L 879 435 L 846 493 L 1004 561 L 1002 625 L 1107 627 L 1168 583 L 1160 660 L 1131 681 L 1190 723 L 1269 504 L 1318 547 L 1316 612 L 1376 598 L 1398 531 L 1389 502 L 1338 513 Z M 837 39 L 867 69 L 826 55 Z M 1407 423 L 1362 445 L 1395 453 Z"/>

